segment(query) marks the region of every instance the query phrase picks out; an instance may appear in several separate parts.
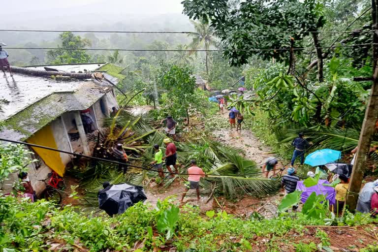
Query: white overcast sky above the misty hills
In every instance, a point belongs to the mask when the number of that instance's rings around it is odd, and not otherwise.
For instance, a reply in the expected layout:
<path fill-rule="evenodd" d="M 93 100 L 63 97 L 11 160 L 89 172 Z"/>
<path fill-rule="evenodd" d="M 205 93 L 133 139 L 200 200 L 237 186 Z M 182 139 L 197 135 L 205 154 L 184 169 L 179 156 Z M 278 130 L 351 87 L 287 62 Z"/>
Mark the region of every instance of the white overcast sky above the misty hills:
<path fill-rule="evenodd" d="M 6 1 L 5 11 L 8 15 L 18 15 L 24 12 L 40 12 L 46 10 L 57 10 L 64 8 L 89 8 L 95 10 L 95 6 L 101 6 L 97 11 L 100 13 L 104 7 L 107 12 L 123 13 L 145 13 L 145 14 L 165 14 L 181 13 L 182 0 L 15 0 Z M 4 2 L 5 3 L 5 2 Z M 4 5 L 3 5 L 4 6 Z M 58 10 L 59 11 L 59 10 Z M 86 10 L 83 9 L 83 13 Z M 22 19 L 22 16 L 18 16 Z"/>

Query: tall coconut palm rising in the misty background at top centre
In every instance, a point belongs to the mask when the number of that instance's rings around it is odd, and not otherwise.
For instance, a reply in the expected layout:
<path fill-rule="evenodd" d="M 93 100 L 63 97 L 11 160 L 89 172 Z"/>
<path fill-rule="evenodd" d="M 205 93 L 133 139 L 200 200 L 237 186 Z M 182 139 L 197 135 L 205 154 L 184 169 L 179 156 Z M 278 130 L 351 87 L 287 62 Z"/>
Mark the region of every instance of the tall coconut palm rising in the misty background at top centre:
<path fill-rule="evenodd" d="M 190 21 L 194 25 L 196 33 L 190 33 L 192 41 L 189 45 L 191 50 L 198 50 L 198 48 L 205 48 L 206 50 L 206 74 L 209 75 L 208 50 L 211 46 L 216 45 L 214 30 L 208 24 L 202 22 Z M 193 52 L 191 52 L 193 53 Z"/>

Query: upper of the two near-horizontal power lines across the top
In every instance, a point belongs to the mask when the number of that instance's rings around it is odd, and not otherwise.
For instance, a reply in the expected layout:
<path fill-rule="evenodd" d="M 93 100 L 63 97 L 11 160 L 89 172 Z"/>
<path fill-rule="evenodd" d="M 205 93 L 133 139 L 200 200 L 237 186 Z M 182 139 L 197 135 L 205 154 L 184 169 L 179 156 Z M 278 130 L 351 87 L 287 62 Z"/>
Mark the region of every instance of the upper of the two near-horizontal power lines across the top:
<path fill-rule="evenodd" d="M 91 33 L 145 33 L 145 34 L 198 34 L 198 32 L 158 32 L 158 31 L 64 31 L 64 30 L 18 30 L 18 29 L 0 29 L 0 32 L 77 32 L 77 33 L 83 33 L 83 32 L 91 32 Z M 235 32 L 218 32 L 218 33 L 350 33 L 355 31 L 264 31 L 264 32 L 248 32 L 248 31 L 240 31 L 237 30 Z M 358 32 L 374 32 L 374 31 L 358 31 Z"/>

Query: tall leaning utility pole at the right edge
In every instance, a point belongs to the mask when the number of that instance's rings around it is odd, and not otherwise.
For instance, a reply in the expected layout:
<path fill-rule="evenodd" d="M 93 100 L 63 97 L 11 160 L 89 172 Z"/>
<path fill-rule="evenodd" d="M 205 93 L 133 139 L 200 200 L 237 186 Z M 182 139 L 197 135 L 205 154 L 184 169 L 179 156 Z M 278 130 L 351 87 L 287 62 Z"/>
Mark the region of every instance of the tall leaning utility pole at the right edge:
<path fill-rule="evenodd" d="M 369 154 L 370 144 L 375 133 L 375 124 L 378 117 L 378 5 L 376 0 L 372 0 L 373 17 L 373 85 L 369 97 L 368 106 L 365 111 L 365 118 L 362 123 L 360 138 L 358 141 L 358 151 L 353 165 L 349 182 L 349 195 L 347 196 L 347 206 L 349 210 L 355 210 L 357 206 L 358 193 L 361 189 L 361 182 L 366 167 L 366 159 Z"/>

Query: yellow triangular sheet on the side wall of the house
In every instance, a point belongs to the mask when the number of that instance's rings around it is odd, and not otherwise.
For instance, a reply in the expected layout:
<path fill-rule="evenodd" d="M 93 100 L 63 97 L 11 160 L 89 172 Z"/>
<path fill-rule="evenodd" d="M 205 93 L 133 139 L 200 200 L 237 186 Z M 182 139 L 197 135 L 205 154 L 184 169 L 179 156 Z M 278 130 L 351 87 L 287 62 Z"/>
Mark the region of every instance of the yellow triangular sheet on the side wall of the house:
<path fill-rule="evenodd" d="M 37 144 L 41 146 L 47 146 L 50 148 L 58 149 L 54 139 L 53 131 L 50 125 L 44 126 L 32 135 L 28 140 L 28 143 Z M 47 166 L 53 169 L 56 173 L 63 177 L 65 165 L 62 162 L 62 158 L 59 152 L 50 151 L 38 147 L 32 147 L 33 150 L 42 158 Z"/>

